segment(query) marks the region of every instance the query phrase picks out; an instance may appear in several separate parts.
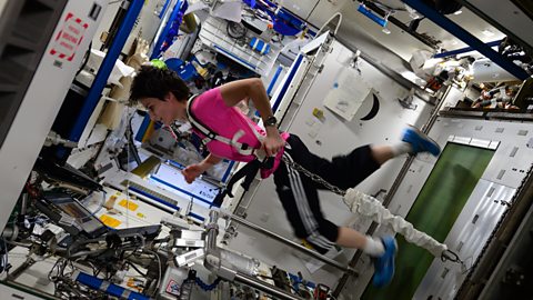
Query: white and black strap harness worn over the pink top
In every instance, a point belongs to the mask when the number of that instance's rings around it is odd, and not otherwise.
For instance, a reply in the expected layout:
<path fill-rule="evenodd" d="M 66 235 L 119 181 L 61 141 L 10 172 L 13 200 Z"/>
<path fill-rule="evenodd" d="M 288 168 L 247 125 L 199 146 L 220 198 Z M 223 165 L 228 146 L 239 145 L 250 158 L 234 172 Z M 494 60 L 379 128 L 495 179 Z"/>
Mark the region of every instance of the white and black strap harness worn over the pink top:
<path fill-rule="evenodd" d="M 244 180 L 241 183 L 241 187 L 244 189 L 244 191 L 248 191 L 248 189 L 250 188 L 250 184 L 252 183 L 253 179 L 255 178 L 255 174 L 260 169 L 271 169 L 274 166 L 274 158 L 273 157 L 264 158 L 264 151 L 262 151 L 261 149 L 252 148 L 248 143 L 239 142 L 239 140 L 244 136 L 244 130 L 242 129 L 237 131 L 235 134 L 233 134 L 233 137 L 229 139 L 227 137 L 220 136 L 219 133 L 217 133 L 217 131 L 212 130 L 202 121 L 200 121 L 200 119 L 197 118 L 194 112 L 192 112 L 192 103 L 197 98 L 197 96 L 198 94 L 193 94 L 188 100 L 187 117 L 191 122 L 192 128 L 200 131 L 204 136 L 204 138 L 202 139 L 202 143 L 205 146 L 208 142 L 217 140 L 233 147 L 242 156 L 255 156 L 254 160 L 248 162 L 244 167 L 242 167 L 239 171 L 237 171 L 231 177 L 225 188 L 221 188 L 219 190 L 219 193 L 214 198 L 212 206 L 220 207 L 225 196 L 233 198 L 231 190 L 233 189 L 233 184 L 235 184 L 237 181 L 244 178 Z M 247 121 L 247 123 L 250 126 L 250 128 L 252 129 L 252 132 L 255 134 L 258 140 L 261 141 L 263 137 L 259 134 L 259 132 L 255 130 L 255 128 L 252 127 L 250 122 Z"/>

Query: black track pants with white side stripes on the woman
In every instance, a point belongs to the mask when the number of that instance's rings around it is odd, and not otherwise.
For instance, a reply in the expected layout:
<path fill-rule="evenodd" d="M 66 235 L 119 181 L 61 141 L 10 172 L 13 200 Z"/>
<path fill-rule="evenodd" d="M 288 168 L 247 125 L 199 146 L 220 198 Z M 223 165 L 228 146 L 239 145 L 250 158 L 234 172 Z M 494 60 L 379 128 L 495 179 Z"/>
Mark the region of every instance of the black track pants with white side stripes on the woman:
<path fill-rule="evenodd" d="M 380 168 L 372 158 L 370 146 L 356 148 L 331 161 L 311 153 L 298 136 L 286 140 L 283 157 L 341 189 L 353 188 Z M 296 237 L 305 239 L 319 252 L 325 253 L 339 236 L 339 227 L 324 219 L 316 189 L 324 189 L 309 177 L 282 161 L 274 172 L 278 196 Z"/>

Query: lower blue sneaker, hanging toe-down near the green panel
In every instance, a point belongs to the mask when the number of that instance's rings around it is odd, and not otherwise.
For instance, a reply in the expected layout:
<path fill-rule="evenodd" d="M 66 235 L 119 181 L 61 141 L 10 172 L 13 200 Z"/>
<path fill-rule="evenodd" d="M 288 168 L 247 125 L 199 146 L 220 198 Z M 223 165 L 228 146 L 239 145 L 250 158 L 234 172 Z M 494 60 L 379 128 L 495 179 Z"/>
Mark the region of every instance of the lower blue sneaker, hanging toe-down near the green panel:
<path fill-rule="evenodd" d="M 393 237 L 383 237 L 381 241 L 385 247 L 385 252 L 375 259 L 374 277 L 372 278 L 372 283 L 378 288 L 391 282 L 394 276 L 394 257 L 398 250 L 396 240 Z"/>

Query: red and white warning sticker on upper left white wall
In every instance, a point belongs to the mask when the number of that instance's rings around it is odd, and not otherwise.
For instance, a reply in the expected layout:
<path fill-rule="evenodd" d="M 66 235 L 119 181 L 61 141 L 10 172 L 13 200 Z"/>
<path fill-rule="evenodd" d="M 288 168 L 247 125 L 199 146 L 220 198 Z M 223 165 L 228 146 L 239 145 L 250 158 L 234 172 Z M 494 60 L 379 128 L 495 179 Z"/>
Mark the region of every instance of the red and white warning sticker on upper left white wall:
<path fill-rule="evenodd" d="M 67 13 L 63 28 L 56 37 L 50 54 L 71 61 L 74 58 L 78 46 L 83 40 L 83 34 L 88 27 L 88 23 L 74 17 L 72 12 Z"/>

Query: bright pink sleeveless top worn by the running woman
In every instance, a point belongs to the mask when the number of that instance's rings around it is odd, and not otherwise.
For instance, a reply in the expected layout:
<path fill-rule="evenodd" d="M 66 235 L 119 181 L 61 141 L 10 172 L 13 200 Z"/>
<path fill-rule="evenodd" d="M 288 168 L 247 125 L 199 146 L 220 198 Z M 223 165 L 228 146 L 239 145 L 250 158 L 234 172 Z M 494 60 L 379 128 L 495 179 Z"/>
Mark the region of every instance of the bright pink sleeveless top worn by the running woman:
<path fill-rule="evenodd" d="M 261 142 L 258 140 L 252 130 L 257 130 L 257 132 L 259 132 L 261 136 L 265 136 L 266 133 L 264 130 L 244 113 L 242 113 L 238 108 L 228 107 L 222 99 L 220 89 L 211 89 L 197 97 L 193 101 L 194 102 L 191 107 L 192 112 L 211 130 L 230 140 L 239 130 L 243 130 L 244 134 L 238 140 L 239 142 L 247 143 L 254 149 L 259 149 L 261 147 Z M 205 136 L 197 129 L 193 128 L 193 131 L 201 138 L 205 138 Z M 289 133 L 282 132 L 281 138 L 286 141 Z M 255 156 L 243 156 L 239 153 L 239 151 L 231 144 L 221 141 L 211 140 L 207 143 L 207 147 L 209 152 L 219 158 L 243 162 L 249 162 L 255 159 Z M 272 169 L 261 170 L 261 178 L 269 177 L 275 171 L 275 169 L 278 169 L 281 157 L 283 156 L 283 150 L 284 149 L 276 153 L 274 167 Z"/>

